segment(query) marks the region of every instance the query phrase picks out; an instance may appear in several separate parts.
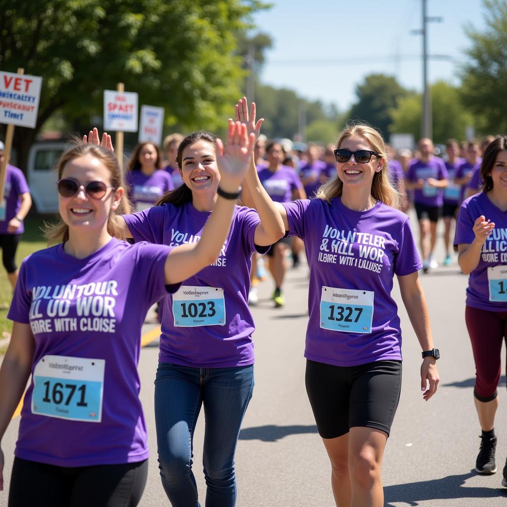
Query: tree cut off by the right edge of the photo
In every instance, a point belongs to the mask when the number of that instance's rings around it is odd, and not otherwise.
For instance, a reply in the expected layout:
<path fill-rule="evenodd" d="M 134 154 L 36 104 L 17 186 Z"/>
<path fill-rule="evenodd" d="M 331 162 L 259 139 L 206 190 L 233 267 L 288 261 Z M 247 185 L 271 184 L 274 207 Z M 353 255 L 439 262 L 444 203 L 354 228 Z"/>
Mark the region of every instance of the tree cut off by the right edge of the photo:
<path fill-rule="evenodd" d="M 484 0 L 484 32 L 472 26 L 466 34 L 472 46 L 461 66 L 461 96 L 470 112 L 480 118 L 483 133 L 507 132 L 507 3 Z"/>

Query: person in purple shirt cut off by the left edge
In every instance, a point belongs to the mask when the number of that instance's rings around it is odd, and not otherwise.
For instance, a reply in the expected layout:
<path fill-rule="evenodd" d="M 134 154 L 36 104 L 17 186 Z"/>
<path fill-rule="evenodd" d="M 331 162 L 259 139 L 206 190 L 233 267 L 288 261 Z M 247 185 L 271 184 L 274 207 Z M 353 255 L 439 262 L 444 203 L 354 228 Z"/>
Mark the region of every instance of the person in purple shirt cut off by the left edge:
<path fill-rule="evenodd" d="M 4 149 L 4 143 L 0 141 L 0 164 L 4 161 Z M 16 251 L 23 237 L 23 221 L 32 201 L 23 171 L 7 162 L 4 202 L 0 203 L 0 248 L 2 248 L 2 263 L 14 291 L 19 272 Z"/>

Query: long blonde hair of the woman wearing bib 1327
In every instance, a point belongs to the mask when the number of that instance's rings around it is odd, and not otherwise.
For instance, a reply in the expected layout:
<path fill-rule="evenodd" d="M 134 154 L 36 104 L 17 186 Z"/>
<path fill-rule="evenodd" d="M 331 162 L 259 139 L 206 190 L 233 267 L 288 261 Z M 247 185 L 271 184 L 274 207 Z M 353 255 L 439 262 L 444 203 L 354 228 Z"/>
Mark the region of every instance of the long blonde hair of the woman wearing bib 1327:
<path fill-rule="evenodd" d="M 384 165 L 379 172 L 375 172 L 372 181 L 371 195 L 377 201 L 381 201 L 393 208 L 399 208 L 401 204 L 400 193 L 389 182 L 387 174 L 387 166 L 389 158 L 385 148 L 384 139 L 378 130 L 370 125 L 360 122 L 347 122 L 344 129 L 338 136 L 336 148 L 340 148 L 342 142 L 347 137 L 357 135 L 363 137 L 370 144 L 372 151 L 377 152 L 381 159 L 384 160 Z M 334 197 L 341 196 L 343 192 L 342 180 L 336 175 L 334 178 L 324 183 L 317 191 L 316 197 L 324 201 L 331 202 Z"/>

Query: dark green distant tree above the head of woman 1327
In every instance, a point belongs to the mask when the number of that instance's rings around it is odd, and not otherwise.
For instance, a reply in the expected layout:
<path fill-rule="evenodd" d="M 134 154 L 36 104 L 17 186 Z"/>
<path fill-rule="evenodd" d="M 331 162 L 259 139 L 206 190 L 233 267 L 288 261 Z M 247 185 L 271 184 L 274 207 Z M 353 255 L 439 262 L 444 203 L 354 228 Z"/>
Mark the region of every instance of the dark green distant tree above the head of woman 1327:
<path fill-rule="evenodd" d="M 364 83 L 357 85 L 358 100 L 352 105 L 348 116 L 351 120 L 370 123 L 385 137 L 392 123 L 393 107 L 408 93 L 392 76 L 370 74 Z"/>

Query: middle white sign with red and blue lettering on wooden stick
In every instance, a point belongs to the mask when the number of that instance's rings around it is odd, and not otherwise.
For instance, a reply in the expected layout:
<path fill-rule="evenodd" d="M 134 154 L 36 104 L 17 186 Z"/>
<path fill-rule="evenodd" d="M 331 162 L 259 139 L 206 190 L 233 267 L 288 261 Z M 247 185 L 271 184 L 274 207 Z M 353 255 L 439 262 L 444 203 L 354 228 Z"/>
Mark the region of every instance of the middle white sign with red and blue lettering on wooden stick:
<path fill-rule="evenodd" d="M 104 130 L 137 132 L 137 93 L 104 90 Z"/>

